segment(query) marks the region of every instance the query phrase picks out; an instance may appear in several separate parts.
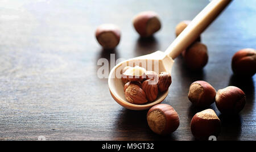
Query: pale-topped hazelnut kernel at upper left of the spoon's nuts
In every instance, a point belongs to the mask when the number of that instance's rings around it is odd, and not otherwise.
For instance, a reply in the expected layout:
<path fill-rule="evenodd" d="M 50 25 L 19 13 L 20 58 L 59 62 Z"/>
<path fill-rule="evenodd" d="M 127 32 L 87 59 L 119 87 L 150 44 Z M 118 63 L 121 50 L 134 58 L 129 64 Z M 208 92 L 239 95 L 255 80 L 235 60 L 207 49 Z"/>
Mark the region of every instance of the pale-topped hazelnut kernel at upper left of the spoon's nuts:
<path fill-rule="evenodd" d="M 143 81 L 142 75 L 146 72 L 146 69 L 140 66 L 130 67 L 122 74 L 122 81 Z"/>

